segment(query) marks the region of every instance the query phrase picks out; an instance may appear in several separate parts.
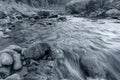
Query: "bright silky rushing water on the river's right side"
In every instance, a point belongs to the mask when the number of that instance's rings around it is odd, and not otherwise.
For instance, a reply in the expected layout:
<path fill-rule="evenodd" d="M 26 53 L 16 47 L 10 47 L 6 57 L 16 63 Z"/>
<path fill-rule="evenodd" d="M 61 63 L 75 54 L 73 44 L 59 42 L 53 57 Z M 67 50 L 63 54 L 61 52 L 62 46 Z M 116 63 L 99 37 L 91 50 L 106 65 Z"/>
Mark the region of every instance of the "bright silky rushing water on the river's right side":
<path fill-rule="evenodd" d="M 67 19 L 44 40 L 63 50 L 73 80 L 120 80 L 120 21 Z"/>

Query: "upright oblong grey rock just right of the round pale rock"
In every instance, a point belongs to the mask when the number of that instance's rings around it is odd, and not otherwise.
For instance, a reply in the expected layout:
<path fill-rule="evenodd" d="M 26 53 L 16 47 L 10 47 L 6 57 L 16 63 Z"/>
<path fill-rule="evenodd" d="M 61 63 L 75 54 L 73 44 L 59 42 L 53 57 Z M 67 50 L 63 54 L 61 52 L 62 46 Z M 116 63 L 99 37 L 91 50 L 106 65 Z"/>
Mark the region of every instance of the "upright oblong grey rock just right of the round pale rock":
<path fill-rule="evenodd" d="M 14 70 L 21 69 L 22 68 L 22 62 L 21 62 L 20 54 L 14 54 L 13 55 L 13 60 L 14 60 L 13 69 Z"/>

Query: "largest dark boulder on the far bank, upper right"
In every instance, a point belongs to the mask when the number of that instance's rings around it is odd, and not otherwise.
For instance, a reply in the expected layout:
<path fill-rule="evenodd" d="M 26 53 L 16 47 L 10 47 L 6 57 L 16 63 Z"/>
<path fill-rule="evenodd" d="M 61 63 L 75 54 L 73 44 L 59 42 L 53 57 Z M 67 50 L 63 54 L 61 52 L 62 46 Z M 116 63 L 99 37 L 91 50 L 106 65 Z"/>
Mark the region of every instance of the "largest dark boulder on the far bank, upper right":
<path fill-rule="evenodd" d="M 69 13 L 94 12 L 99 8 L 107 9 L 113 0 L 72 0 L 66 5 Z"/>

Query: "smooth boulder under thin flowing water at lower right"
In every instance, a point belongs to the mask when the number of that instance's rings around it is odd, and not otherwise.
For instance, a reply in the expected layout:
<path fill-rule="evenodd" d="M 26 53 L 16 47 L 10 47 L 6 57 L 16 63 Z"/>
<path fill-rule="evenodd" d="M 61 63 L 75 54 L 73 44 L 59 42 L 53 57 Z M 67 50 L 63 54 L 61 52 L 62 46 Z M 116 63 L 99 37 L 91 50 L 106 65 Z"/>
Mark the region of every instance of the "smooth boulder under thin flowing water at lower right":
<path fill-rule="evenodd" d="M 103 65 L 95 56 L 83 56 L 81 59 L 81 68 L 88 77 L 103 77 L 105 75 Z"/>

